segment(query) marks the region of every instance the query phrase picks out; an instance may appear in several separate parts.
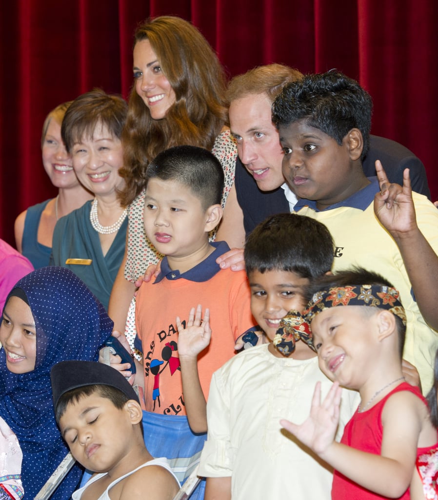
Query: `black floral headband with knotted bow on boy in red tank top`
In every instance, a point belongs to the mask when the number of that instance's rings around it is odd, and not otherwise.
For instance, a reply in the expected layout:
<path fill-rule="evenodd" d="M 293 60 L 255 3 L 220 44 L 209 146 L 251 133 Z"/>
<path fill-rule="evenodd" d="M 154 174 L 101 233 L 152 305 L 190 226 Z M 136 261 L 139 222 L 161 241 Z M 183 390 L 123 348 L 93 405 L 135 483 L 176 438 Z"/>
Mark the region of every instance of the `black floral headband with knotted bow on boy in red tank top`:
<path fill-rule="evenodd" d="M 329 290 L 320 290 L 314 294 L 302 313 L 289 311 L 280 322 L 273 343 L 285 356 L 295 350 L 295 341 L 299 339 L 315 350 L 310 323 L 317 314 L 337 305 L 368 305 L 387 309 L 399 316 L 406 326 L 405 309 L 399 297 L 398 290 L 392 286 L 376 284 L 335 286 Z"/>

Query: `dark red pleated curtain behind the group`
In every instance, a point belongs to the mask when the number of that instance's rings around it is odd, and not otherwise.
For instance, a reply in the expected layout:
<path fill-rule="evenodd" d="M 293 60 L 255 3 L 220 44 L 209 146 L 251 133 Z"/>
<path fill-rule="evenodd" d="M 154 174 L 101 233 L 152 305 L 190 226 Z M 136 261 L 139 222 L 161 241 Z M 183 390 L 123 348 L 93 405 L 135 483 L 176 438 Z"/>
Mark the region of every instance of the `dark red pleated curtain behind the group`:
<path fill-rule="evenodd" d="M 1 0 L 1 238 L 13 244 L 15 216 L 55 194 L 41 164 L 46 113 L 95 86 L 126 97 L 135 26 L 162 14 L 192 21 L 229 76 L 283 62 L 359 79 L 373 133 L 423 160 L 438 199 L 436 0 Z"/>

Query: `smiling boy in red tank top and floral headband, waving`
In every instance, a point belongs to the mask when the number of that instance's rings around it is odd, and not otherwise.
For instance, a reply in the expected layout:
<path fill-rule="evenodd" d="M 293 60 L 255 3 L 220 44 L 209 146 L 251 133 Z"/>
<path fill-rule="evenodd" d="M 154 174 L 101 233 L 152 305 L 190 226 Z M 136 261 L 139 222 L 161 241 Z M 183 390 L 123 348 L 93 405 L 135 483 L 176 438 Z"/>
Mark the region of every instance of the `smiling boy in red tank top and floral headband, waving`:
<path fill-rule="evenodd" d="M 425 460 L 436 462 L 437 429 L 420 390 L 403 375 L 406 316 L 399 292 L 357 268 L 325 276 L 309 294 L 296 327 L 311 335 L 320 368 L 335 382 L 322 402 L 316 385 L 302 424 L 281 424 L 333 466 L 336 500 L 437 498 L 436 467 L 422 468 Z M 334 440 L 340 385 L 358 390 L 362 400 L 341 443 Z"/>

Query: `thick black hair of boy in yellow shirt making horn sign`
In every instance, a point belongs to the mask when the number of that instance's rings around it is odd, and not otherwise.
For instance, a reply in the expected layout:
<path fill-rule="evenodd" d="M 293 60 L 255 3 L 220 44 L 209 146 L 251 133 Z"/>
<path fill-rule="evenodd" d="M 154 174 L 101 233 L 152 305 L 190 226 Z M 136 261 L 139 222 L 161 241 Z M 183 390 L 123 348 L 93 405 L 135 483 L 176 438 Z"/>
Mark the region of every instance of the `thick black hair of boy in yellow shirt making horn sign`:
<path fill-rule="evenodd" d="M 272 105 L 272 121 L 277 128 L 304 120 L 342 144 L 352 128 L 362 132 L 363 160 L 370 144 L 370 94 L 359 83 L 337 71 L 308 74 L 286 85 Z"/>

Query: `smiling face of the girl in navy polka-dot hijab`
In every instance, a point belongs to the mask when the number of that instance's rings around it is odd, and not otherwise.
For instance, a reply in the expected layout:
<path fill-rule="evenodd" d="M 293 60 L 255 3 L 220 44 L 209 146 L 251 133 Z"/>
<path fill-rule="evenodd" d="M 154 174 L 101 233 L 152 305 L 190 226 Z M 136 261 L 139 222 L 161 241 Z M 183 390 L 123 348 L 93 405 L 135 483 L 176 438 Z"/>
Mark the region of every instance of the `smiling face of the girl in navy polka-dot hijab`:
<path fill-rule="evenodd" d="M 6 366 L 12 373 L 35 369 L 36 327 L 30 307 L 11 296 L 3 309 L 0 341 L 6 354 Z"/>

